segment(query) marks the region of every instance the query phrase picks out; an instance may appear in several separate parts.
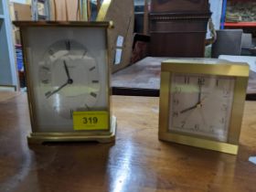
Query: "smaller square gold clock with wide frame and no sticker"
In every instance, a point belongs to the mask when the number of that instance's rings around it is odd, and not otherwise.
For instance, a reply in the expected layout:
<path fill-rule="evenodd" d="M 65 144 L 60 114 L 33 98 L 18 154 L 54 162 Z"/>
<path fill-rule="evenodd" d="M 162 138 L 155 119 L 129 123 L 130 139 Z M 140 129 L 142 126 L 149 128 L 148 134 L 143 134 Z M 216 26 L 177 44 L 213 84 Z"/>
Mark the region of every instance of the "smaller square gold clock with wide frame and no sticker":
<path fill-rule="evenodd" d="M 237 154 L 248 76 L 245 63 L 164 61 L 159 139 Z"/>

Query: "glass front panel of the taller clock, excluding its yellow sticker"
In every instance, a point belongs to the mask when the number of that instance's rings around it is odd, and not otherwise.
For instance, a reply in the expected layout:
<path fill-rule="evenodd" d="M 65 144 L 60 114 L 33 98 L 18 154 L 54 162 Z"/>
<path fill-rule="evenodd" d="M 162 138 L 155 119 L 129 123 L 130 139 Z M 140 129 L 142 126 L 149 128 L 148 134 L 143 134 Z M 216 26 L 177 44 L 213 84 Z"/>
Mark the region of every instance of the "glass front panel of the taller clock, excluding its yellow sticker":
<path fill-rule="evenodd" d="M 104 28 L 30 27 L 27 55 L 37 132 L 73 132 L 72 112 L 108 110 Z"/>

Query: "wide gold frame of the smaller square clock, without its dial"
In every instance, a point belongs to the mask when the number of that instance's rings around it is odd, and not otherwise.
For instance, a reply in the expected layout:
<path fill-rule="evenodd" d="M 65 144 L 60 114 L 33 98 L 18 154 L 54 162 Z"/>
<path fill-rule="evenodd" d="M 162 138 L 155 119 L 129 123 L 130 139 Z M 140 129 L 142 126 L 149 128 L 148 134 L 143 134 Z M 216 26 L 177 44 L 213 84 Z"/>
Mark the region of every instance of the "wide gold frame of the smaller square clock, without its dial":
<path fill-rule="evenodd" d="M 234 98 L 229 121 L 228 142 L 222 143 L 206 136 L 169 131 L 169 107 L 171 98 L 172 73 L 219 75 L 235 78 Z M 221 59 L 168 59 L 161 65 L 160 109 L 158 138 L 177 144 L 187 144 L 200 148 L 237 155 L 239 149 L 240 126 L 249 77 L 246 63 L 234 63 Z"/>

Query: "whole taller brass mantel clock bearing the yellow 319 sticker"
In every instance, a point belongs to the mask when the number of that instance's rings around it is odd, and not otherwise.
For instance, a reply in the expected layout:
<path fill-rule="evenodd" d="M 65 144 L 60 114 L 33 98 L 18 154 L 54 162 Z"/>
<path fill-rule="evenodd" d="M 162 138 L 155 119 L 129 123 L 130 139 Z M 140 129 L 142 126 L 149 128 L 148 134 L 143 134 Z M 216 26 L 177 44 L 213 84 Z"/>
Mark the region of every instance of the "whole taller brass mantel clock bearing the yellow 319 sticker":
<path fill-rule="evenodd" d="M 32 124 L 29 141 L 114 139 L 108 22 L 15 22 Z"/>

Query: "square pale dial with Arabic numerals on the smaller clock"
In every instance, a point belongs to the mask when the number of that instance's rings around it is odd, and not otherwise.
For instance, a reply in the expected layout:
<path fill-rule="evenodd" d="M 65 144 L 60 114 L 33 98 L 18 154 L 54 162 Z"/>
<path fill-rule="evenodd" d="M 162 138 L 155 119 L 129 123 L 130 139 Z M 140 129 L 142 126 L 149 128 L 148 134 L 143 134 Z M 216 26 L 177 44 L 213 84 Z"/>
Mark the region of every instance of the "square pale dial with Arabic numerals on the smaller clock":
<path fill-rule="evenodd" d="M 227 142 L 234 78 L 174 73 L 169 130 Z"/>

